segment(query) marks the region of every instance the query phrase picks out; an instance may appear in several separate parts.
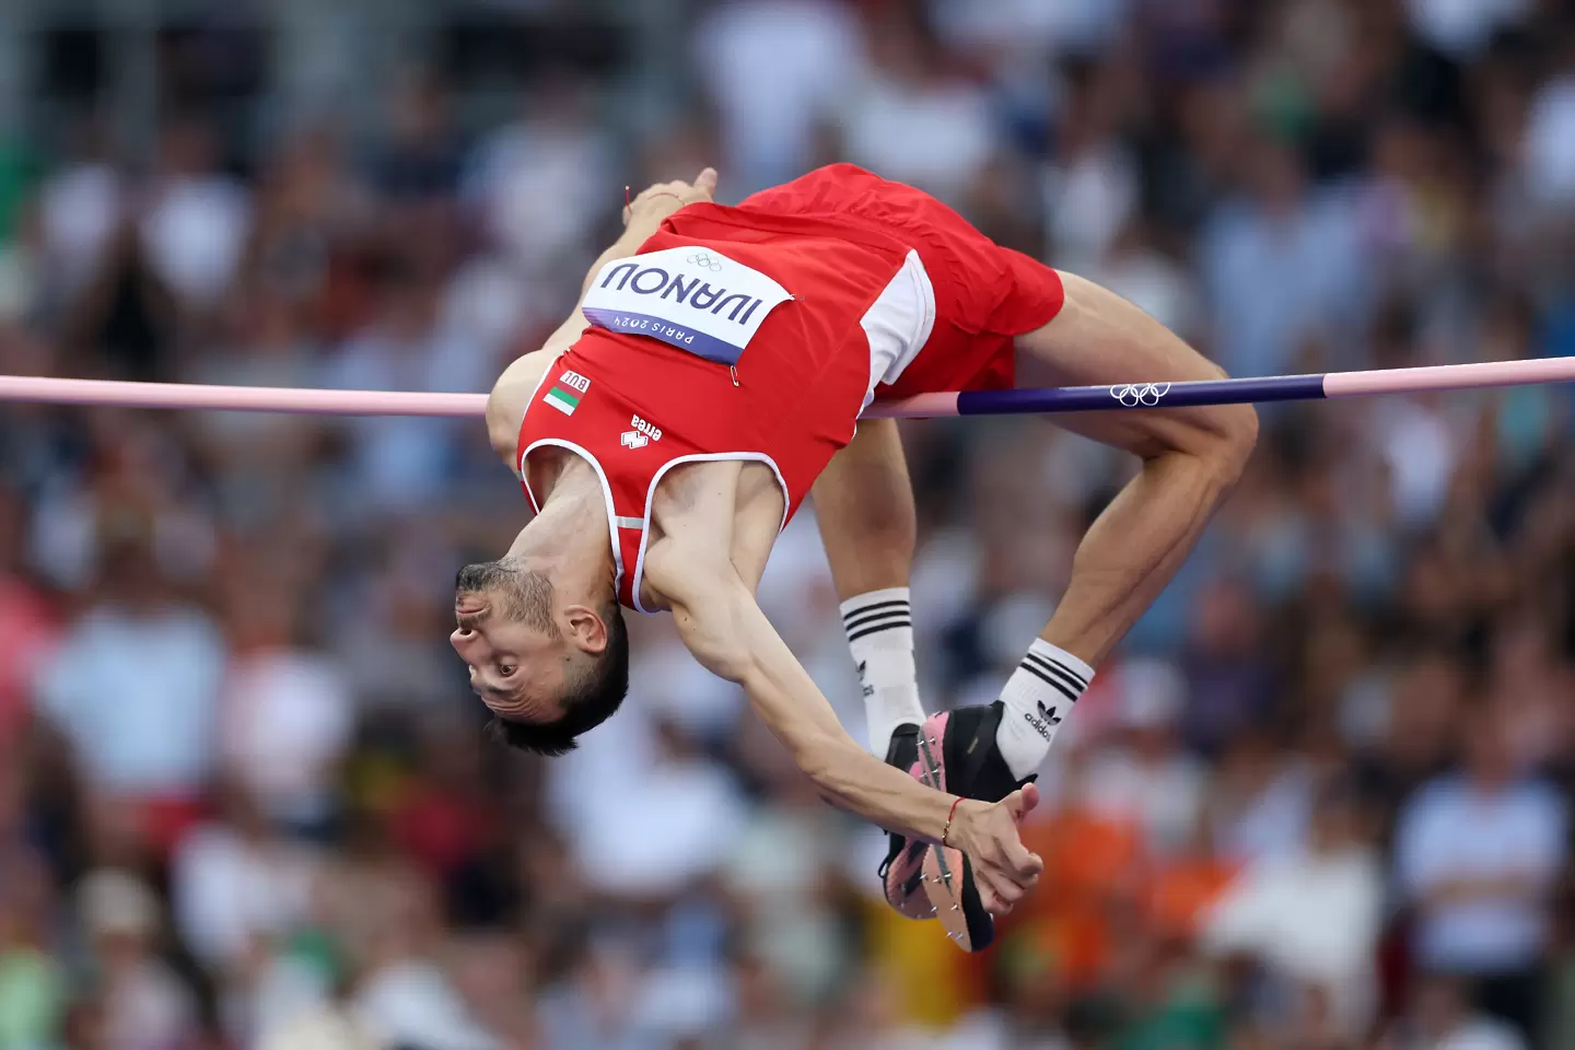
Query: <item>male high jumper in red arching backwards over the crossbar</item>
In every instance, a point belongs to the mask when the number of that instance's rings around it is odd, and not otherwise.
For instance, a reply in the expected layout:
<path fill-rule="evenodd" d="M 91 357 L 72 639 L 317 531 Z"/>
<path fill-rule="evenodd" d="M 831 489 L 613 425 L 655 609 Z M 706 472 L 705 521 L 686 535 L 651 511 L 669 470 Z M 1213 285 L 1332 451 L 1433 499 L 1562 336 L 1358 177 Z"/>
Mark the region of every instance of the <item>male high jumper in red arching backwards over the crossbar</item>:
<path fill-rule="evenodd" d="M 821 793 L 888 830 L 891 905 L 939 911 L 976 951 L 991 916 L 1038 880 L 1016 823 L 1057 726 L 1238 477 L 1255 417 L 1060 417 L 1142 471 L 1084 538 L 1002 699 L 926 721 L 912 491 L 895 425 L 855 431 L 860 411 L 877 395 L 1011 386 L 1014 349 L 1066 384 L 1221 373 L 1137 307 L 995 246 L 912 187 L 844 164 L 724 208 L 715 181 L 707 168 L 644 190 L 575 312 L 498 379 L 488 434 L 537 515 L 502 560 L 460 571 L 454 647 L 493 734 L 561 754 L 624 697 L 621 604 L 673 612 Z M 874 754 L 754 601 L 811 488 Z"/>

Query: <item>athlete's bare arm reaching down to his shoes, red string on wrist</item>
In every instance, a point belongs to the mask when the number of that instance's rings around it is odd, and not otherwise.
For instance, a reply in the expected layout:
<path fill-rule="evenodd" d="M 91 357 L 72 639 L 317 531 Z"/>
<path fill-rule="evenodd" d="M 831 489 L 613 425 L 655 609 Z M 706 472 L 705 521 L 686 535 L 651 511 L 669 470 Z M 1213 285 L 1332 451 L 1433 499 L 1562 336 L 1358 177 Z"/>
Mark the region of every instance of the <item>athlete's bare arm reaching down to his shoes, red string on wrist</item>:
<path fill-rule="evenodd" d="M 726 546 L 720 548 L 723 553 Z M 984 886 L 1014 904 L 1043 863 L 1017 836 L 1017 819 L 1036 793 L 1002 803 L 942 795 L 860 748 L 830 702 L 761 612 L 748 586 L 713 545 L 663 540 L 646 554 L 646 582 L 673 606 L 679 638 L 712 674 L 737 682 L 750 707 L 833 804 L 901 834 L 947 841 L 973 861 Z"/>

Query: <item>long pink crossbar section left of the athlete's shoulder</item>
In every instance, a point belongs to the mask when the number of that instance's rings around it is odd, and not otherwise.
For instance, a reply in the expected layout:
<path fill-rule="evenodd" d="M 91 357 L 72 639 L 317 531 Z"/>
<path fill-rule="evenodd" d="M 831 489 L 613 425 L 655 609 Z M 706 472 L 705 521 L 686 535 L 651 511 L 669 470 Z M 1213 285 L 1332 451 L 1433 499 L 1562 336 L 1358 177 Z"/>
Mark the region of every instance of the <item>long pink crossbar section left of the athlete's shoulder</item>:
<path fill-rule="evenodd" d="M 485 394 L 402 394 L 395 390 L 295 390 L 287 387 L 118 383 L 0 376 L 0 401 L 195 408 L 313 416 L 458 416 L 487 412 Z"/>

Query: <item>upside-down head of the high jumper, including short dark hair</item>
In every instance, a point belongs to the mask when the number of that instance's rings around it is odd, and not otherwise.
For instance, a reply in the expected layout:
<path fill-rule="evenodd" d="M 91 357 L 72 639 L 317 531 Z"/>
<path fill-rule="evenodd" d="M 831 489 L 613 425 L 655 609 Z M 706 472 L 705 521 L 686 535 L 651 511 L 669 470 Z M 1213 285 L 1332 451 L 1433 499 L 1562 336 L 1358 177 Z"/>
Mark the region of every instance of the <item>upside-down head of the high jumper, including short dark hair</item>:
<path fill-rule="evenodd" d="M 575 601 L 510 559 L 466 565 L 454 587 L 449 641 L 495 715 L 495 740 L 562 754 L 624 702 L 628 636 L 616 597 Z"/>

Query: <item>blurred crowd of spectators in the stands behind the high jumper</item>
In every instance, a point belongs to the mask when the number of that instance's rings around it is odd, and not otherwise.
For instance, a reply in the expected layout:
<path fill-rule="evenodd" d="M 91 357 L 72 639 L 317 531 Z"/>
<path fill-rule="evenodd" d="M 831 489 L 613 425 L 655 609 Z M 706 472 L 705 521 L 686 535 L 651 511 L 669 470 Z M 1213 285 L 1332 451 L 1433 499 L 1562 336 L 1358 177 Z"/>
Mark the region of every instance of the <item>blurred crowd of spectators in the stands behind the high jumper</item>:
<path fill-rule="evenodd" d="M 485 390 L 624 186 L 833 159 L 1236 375 L 1575 353 L 1559 0 L 5 0 L 0 372 Z M 657 617 L 480 741 L 479 423 L 0 411 L 0 1050 L 1575 1047 L 1570 392 L 1284 406 L 980 957 Z M 914 423 L 926 702 L 1132 464 Z M 762 604 L 855 737 L 813 515 Z"/>

